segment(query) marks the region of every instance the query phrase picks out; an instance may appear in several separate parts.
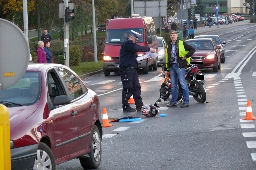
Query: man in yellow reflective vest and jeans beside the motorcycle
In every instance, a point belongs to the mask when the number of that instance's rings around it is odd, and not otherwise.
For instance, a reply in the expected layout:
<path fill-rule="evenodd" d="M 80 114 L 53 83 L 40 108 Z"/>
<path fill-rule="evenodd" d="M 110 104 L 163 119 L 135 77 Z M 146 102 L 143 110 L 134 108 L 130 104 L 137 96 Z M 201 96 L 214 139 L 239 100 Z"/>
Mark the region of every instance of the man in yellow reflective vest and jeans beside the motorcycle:
<path fill-rule="evenodd" d="M 177 107 L 177 84 L 179 79 L 184 96 L 181 107 L 189 107 L 189 91 L 187 82 L 185 80 L 185 66 L 190 64 L 190 57 L 196 50 L 186 42 L 178 40 L 177 31 L 171 30 L 169 34 L 171 41 L 166 48 L 164 76 L 168 76 L 168 71 L 170 71 L 172 82 L 172 99 L 171 103 L 167 104 L 166 106 Z"/>

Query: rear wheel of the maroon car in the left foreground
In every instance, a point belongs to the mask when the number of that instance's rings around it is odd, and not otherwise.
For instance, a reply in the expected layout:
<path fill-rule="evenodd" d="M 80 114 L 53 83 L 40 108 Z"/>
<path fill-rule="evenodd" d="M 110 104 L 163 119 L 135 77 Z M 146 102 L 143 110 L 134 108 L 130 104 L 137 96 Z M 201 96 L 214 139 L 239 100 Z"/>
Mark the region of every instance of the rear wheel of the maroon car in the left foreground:
<path fill-rule="evenodd" d="M 89 158 L 79 158 L 80 164 L 84 169 L 96 169 L 101 161 L 101 138 L 99 129 L 96 125 L 93 127 L 93 135 L 90 144 Z"/>

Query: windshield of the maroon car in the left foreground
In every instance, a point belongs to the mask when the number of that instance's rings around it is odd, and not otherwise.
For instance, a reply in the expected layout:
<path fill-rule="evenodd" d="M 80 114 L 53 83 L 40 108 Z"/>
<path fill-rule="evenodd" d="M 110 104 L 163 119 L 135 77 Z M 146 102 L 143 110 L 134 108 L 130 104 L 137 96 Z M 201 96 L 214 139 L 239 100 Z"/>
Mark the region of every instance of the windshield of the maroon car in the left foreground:
<path fill-rule="evenodd" d="M 0 90 L 0 104 L 6 107 L 28 106 L 38 101 L 40 94 L 40 72 L 25 72 L 17 83 Z"/>

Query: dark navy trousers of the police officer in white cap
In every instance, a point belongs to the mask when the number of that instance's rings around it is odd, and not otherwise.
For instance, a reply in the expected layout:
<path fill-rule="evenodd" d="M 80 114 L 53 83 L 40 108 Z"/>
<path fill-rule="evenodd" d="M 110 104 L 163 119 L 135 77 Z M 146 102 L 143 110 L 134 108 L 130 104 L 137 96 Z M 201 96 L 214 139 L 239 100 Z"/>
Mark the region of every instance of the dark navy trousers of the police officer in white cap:
<path fill-rule="evenodd" d="M 123 93 L 122 93 L 122 107 L 125 109 L 129 107 L 128 103 L 130 97 L 133 95 L 136 108 L 141 108 L 143 106 L 141 94 L 141 86 L 139 83 L 139 76 L 135 68 L 127 67 L 124 69 L 119 69 L 119 74 L 121 76 L 121 81 L 123 83 Z"/>

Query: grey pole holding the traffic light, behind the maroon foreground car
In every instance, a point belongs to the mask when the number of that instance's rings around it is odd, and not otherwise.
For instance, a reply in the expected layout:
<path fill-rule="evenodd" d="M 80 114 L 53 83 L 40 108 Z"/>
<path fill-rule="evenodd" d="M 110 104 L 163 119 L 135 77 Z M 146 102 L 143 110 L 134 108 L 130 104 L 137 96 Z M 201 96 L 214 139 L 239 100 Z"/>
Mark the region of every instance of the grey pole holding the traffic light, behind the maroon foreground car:
<path fill-rule="evenodd" d="M 66 7 L 69 7 L 68 1 L 69 0 L 63 0 L 64 1 L 64 10 Z M 64 64 L 65 66 L 69 67 L 69 23 L 65 22 L 64 19 Z"/>

